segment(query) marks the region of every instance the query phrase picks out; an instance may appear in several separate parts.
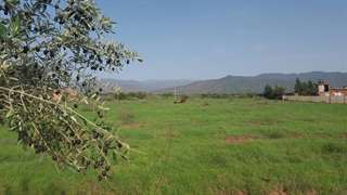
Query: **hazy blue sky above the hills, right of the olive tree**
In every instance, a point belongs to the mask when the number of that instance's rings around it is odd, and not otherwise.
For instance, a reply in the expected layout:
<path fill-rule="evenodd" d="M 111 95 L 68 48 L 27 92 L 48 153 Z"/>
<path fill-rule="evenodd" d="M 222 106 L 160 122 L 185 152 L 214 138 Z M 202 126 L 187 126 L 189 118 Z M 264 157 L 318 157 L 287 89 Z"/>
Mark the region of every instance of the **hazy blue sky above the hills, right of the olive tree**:
<path fill-rule="evenodd" d="M 141 53 L 120 79 L 347 72 L 347 0 L 97 0 Z"/>

